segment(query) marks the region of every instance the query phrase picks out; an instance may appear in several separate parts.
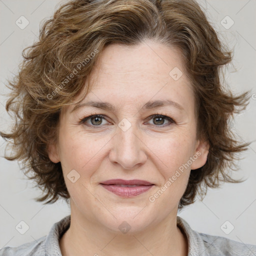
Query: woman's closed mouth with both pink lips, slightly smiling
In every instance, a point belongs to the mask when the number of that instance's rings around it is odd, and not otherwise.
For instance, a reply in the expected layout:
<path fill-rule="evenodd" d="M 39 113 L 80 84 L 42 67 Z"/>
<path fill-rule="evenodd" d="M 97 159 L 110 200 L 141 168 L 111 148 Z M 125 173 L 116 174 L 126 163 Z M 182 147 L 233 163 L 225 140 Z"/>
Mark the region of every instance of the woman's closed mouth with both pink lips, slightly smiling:
<path fill-rule="evenodd" d="M 152 186 L 154 186 L 153 183 L 141 179 L 109 179 L 102 181 L 99 184 L 106 190 L 121 197 L 136 196 L 148 191 Z"/>

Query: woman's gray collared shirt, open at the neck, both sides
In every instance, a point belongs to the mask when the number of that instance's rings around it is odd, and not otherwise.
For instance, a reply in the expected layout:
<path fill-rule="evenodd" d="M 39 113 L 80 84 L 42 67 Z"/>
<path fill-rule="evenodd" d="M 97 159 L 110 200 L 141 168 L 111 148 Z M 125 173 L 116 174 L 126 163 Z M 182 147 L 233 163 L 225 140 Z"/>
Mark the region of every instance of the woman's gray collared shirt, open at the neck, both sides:
<path fill-rule="evenodd" d="M 0 256 L 61 256 L 59 238 L 69 225 L 70 215 L 54 223 L 48 235 L 17 247 L 4 247 L 0 249 Z M 256 245 L 198 233 L 179 216 L 177 225 L 188 239 L 188 256 L 256 256 Z"/>

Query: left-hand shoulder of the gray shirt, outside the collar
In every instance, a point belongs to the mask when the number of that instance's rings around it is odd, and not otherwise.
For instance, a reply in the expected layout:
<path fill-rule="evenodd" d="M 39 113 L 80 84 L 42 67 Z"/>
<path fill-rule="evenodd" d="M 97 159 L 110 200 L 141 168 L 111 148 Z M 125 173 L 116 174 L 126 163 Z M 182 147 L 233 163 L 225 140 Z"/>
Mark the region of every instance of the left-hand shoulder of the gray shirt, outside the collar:
<path fill-rule="evenodd" d="M 0 256 L 32 256 L 44 255 L 46 235 L 36 241 L 27 242 L 17 247 L 4 247 L 0 249 Z"/>

